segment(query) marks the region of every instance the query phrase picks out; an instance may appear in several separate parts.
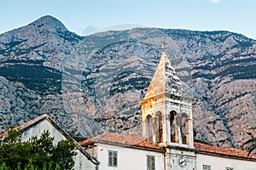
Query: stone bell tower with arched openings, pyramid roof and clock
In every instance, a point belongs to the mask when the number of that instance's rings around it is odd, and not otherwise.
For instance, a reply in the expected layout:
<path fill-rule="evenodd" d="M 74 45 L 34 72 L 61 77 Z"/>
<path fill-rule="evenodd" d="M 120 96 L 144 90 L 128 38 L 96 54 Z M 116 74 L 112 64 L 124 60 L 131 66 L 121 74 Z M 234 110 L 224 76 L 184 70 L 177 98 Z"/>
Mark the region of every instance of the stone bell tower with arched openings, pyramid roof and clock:
<path fill-rule="evenodd" d="M 163 51 L 140 104 L 143 137 L 165 148 L 166 170 L 195 170 L 192 101 Z"/>

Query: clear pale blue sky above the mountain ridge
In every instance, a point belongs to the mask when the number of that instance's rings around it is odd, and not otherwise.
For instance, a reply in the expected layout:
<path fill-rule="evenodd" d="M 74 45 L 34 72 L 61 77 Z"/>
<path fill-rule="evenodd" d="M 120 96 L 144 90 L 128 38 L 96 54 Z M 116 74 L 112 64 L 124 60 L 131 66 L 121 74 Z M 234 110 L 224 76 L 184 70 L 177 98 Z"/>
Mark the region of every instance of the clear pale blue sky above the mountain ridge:
<path fill-rule="evenodd" d="M 0 0 L 0 33 L 46 14 L 79 35 L 136 24 L 234 31 L 256 39 L 256 0 Z"/>

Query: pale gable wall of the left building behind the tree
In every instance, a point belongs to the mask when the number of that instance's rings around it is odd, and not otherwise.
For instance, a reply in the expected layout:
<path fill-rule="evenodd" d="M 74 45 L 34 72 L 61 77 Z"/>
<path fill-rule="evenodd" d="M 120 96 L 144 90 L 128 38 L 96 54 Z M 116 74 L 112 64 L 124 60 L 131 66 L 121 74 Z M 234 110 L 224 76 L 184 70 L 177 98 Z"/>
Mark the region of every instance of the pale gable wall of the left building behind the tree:
<path fill-rule="evenodd" d="M 44 119 L 44 121 L 37 123 L 36 125 L 29 127 L 25 132 L 22 133 L 21 139 L 22 141 L 26 141 L 32 136 L 38 136 L 40 138 L 41 134 L 44 133 L 44 130 L 49 130 L 50 136 L 54 137 L 54 144 L 57 144 L 61 139 L 66 139 L 66 137 L 61 134 L 51 123 Z M 75 161 L 74 169 L 91 169 L 95 170 L 96 165 L 87 159 L 86 156 L 80 151 L 76 150 L 77 155 L 73 156 L 73 160 Z"/>

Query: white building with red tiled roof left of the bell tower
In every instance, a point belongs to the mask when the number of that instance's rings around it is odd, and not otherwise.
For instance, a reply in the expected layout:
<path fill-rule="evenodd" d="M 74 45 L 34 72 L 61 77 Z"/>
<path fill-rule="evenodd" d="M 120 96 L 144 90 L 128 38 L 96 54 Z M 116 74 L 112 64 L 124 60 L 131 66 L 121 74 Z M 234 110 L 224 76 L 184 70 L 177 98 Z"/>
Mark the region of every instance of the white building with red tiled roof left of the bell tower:
<path fill-rule="evenodd" d="M 165 169 L 164 150 L 141 137 L 104 133 L 79 144 L 101 162 L 99 170 Z"/>

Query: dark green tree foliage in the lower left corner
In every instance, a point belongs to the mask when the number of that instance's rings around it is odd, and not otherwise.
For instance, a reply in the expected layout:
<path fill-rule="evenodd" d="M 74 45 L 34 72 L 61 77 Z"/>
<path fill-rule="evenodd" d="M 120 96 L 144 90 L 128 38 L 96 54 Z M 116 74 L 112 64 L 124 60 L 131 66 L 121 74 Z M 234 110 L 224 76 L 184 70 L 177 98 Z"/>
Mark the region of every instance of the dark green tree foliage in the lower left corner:
<path fill-rule="evenodd" d="M 21 141 L 18 130 L 10 130 L 0 144 L 0 170 L 73 169 L 75 145 L 70 140 L 54 144 L 49 131 L 40 138 Z"/>

